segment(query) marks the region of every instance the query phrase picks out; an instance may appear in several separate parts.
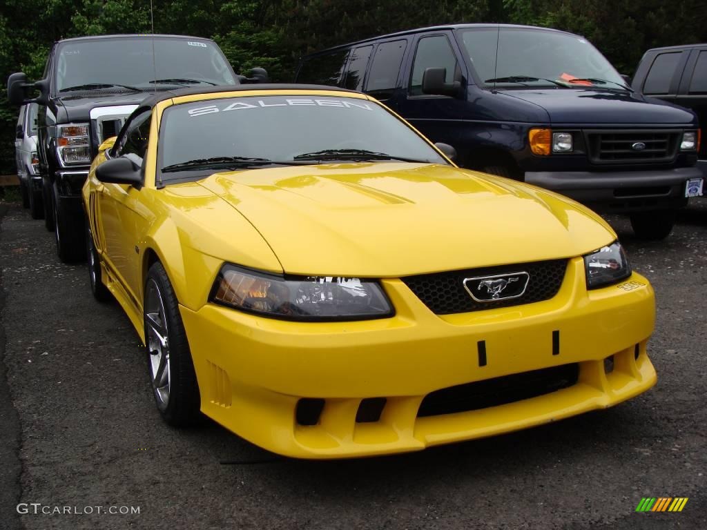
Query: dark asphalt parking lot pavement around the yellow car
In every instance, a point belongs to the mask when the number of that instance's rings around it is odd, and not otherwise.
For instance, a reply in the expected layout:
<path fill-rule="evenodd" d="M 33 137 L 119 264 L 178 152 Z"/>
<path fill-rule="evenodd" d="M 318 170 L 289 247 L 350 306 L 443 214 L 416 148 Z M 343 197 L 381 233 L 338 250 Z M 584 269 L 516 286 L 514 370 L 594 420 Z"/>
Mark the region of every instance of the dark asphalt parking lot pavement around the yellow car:
<path fill-rule="evenodd" d="M 638 242 L 626 220 L 609 220 L 657 292 L 649 344 L 657 387 L 607 411 L 510 435 L 311 462 L 276 458 L 214 423 L 165 425 L 127 317 L 115 303 L 95 302 L 86 266 L 60 264 L 43 223 L 11 206 L 0 232 L 12 399 L 8 406 L 0 385 L 0 526 L 707 528 L 707 200 L 685 211 L 665 242 Z M 1 348 L 0 333 L 0 356 Z M 679 513 L 636 513 L 641 497 L 689 501 Z M 17 502 L 29 513 L 18 516 Z"/>

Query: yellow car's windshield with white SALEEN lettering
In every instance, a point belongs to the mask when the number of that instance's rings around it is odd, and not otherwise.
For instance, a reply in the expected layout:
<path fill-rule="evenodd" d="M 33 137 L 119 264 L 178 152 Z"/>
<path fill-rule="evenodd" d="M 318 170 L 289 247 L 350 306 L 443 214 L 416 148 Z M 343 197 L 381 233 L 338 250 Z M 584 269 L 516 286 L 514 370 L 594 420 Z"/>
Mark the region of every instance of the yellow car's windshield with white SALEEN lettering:
<path fill-rule="evenodd" d="M 266 165 L 445 160 L 380 105 L 356 98 L 260 96 L 206 100 L 165 110 L 161 179 Z"/>

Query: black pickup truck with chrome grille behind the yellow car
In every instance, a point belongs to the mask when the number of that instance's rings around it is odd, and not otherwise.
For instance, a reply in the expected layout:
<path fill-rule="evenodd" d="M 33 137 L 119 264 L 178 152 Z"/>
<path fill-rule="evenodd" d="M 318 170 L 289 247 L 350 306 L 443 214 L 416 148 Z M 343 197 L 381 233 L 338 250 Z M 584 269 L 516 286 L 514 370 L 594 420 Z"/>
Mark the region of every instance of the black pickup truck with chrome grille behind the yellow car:
<path fill-rule="evenodd" d="M 264 71 L 259 71 L 258 75 Z M 8 100 L 37 102 L 37 136 L 47 230 L 62 261 L 85 258 L 81 187 L 98 146 L 115 136 L 149 94 L 187 86 L 237 85 L 212 40 L 179 35 L 103 35 L 54 43 L 42 80 L 8 78 Z"/>

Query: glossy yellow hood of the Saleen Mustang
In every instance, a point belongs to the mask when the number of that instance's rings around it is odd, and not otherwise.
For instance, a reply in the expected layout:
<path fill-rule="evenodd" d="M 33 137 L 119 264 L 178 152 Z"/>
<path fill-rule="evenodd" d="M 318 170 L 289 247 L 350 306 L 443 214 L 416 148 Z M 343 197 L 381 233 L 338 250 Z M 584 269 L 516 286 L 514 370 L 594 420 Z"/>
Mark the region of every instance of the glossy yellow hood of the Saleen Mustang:
<path fill-rule="evenodd" d="M 282 167 L 199 183 L 242 213 L 293 274 L 399 277 L 523 263 L 579 256 L 616 237 L 561 196 L 443 165 Z"/>

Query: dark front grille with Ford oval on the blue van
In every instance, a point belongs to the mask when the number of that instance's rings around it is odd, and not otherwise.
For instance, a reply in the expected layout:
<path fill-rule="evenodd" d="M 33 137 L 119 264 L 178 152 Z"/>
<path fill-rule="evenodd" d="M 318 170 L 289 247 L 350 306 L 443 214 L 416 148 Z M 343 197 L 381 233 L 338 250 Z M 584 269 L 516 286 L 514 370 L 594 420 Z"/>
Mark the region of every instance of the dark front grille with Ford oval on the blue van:
<path fill-rule="evenodd" d="M 585 131 L 589 158 L 595 164 L 670 163 L 682 131 Z M 634 146 L 643 144 L 643 149 Z"/>

